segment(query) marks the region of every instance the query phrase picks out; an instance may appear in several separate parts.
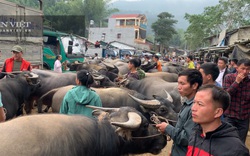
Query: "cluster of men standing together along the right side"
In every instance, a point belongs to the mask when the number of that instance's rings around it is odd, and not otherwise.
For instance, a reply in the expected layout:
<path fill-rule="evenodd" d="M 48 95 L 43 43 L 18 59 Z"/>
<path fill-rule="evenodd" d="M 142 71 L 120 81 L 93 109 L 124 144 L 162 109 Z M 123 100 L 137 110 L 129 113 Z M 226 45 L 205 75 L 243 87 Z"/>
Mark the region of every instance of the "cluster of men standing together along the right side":
<path fill-rule="evenodd" d="M 173 139 L 170 155 L 249 155 L 245 142 L 250 60 L 234 58 L 228 63 L 226 57 L 220 57 L 217 63 L 206 59 L 195 65 L 192 59 L 187 56 L 189 69 L 179 73 L 178 90 L 188 100 L 183 103 L 176 126 L 164 122 L 156 125 Z"/>

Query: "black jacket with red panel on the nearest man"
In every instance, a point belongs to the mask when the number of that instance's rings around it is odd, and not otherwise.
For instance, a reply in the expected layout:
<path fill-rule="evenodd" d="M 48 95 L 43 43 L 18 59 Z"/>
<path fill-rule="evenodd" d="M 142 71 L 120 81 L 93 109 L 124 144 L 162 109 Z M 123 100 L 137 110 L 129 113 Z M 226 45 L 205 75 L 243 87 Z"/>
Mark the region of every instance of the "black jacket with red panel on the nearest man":
<path fill-rule="evenodd" d="M 206 133 L 205 138 L 202 135 L 200 125 L 196 126 L 195 129 L 195 136 L 188 147 L 190 149 L 189 155 L 212 156 L 220 155 L 221 153 L 223 153 L 222 155 L 230 156 L 249 155 L 248 149 L 239 139 L 237 129 L 228 123 L 222 122 L 216 130 Z M 227 150 L 223 150 L 223 147 L 226 147 Z"/>

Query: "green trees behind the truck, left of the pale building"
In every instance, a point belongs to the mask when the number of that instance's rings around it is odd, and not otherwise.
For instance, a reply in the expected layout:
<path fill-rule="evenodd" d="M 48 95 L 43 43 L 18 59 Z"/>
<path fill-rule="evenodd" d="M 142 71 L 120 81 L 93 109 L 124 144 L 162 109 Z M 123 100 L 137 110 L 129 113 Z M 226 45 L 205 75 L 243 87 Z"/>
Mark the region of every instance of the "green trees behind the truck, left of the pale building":
<path fill-rule="evenodd" d="M 8 0 L 20 5 L 38 9 L 38 0 Z M 110 0 L 43 0 L 43 13 L 45 24 L 68 33 L 85 34 L 85 25 L 94 20 L 99 25 L 100 21 L 107 18 L 118 9 L 110 9 Z M 85 24 L 86 23 L 86 24 Z"/>

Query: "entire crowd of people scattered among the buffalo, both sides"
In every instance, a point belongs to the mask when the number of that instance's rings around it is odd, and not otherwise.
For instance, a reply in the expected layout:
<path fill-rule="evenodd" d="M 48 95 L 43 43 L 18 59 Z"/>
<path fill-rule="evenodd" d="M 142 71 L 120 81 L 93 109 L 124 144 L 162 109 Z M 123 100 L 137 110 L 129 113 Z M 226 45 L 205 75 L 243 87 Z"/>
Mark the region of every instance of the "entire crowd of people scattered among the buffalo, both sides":
<path fill-rule="evenodd" d="M 23 59 L 21 46 L 12 48 L 13 56 L 5 60 L 0 78 L 6 72 L 31 70 L 30 63 Z M 95 54 L 98 59 L 98 54 Z M 122 78 L 145 78 L 140 69 L 142 63 L 151 62 L 149 56 L 143 59 L 123 58 L 128 62 L 129 72 Z M 61 56 L 56 57 L 54 70 L 62 72 Z M 183 61 L 184 60 L 184 61 Z M 174 61 L 168 56 L 163 61 Z M 220 57 L 217 63 L 210 60 L 194 61 L 193 56 L 180 64 L 187 69 L 178 73 L 178 91 L 186 97 L 178 115 L 176 126 L 162 122 L 156 127 L 170 135 L 173 140 L 172 156 L 225 155 L 248 156 L 245 146 L 249 128 L 250 113 L 250 60 Z M 158 55 L 152 57 L 154 68 L 161 72 L 162 61 Z M 90 89 L 94 82 L 87 70 L 78 71 L 76 84 L 65 95 L 60 113 L 82 114 L 92 117 L 91 109 L 85 105 L 102 106 L 99 95 Z M 117 81 L 120 81 L 119 78 Z M 0 93 L 0 121 L 5 120 Z"/>

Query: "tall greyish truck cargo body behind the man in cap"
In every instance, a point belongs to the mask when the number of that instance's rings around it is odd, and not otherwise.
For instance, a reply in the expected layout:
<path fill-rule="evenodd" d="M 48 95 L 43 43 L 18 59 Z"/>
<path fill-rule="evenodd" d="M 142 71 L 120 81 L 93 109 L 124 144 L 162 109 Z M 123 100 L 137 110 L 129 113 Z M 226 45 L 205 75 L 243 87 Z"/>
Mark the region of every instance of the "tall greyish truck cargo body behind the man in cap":
<path fill-rule="evenodd" d="M 40 9 L 41 9 L 41 1 Z M 43 12 L 16 3 L 0 1 L 0 67 L 12 56 L 14 45 L 23 48 L 23 57 L 32 68 L 43 65 Z"/>

